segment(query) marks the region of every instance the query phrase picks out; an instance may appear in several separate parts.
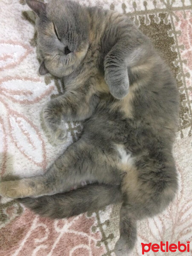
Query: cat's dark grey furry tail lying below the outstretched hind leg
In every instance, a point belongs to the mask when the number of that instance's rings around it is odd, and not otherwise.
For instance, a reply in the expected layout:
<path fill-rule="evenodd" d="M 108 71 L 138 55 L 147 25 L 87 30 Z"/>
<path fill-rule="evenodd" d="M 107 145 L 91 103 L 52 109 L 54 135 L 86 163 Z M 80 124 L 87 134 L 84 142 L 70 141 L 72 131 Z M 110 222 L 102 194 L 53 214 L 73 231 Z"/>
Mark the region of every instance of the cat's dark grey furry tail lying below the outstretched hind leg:
<path fill-rule="evenodd" d="M 18 201 L 45 217 L 68 218 L 82 212 L 95 212 L 109 204 L 122 201 L 120 186 L 90 184 L 82 188 L 39 198 L 19 198 Z"/>

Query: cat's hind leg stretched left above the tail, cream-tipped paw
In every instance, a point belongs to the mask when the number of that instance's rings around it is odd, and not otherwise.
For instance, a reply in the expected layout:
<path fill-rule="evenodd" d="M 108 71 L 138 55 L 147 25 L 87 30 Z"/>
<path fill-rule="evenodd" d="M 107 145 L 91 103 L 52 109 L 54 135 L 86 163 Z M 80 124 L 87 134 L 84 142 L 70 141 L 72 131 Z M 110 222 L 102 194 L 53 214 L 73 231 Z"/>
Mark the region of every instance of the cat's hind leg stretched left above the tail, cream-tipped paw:
<path fill-rule="evenodd" d="M 83 181 L 119 185 L 121 172 L 113 145 L 80 139 L 58 157 L 44 175 L 0 183 L 0 195 L 10 198 L 39 197 L 70 191 Z"/>

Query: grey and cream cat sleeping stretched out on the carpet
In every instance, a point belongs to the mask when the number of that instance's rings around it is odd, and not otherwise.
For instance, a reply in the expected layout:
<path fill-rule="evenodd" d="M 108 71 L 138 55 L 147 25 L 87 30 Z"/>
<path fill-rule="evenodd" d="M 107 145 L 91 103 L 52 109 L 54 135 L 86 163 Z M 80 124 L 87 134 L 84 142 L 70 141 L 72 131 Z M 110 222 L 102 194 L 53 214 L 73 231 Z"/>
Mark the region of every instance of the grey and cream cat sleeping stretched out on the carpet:
<path fill-rule="evenodd" d="M 0 194 L 51 218 L 122 202 L 115 253 L 128 255 L 136 221 L 163 211 L 177 191 L 175 81 L 125 15 L 67 0 L 26 2 L 38 15 L 39 73 L 66 88 L 44 107 L 44 122 L 56 143 L 64 141 L 63 122 L 84 128 L 44 175 L 1 182 Z M 85 180 L 92 184 L 70 191 Z"/>

